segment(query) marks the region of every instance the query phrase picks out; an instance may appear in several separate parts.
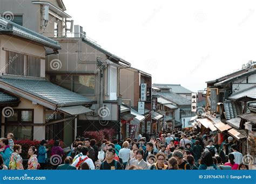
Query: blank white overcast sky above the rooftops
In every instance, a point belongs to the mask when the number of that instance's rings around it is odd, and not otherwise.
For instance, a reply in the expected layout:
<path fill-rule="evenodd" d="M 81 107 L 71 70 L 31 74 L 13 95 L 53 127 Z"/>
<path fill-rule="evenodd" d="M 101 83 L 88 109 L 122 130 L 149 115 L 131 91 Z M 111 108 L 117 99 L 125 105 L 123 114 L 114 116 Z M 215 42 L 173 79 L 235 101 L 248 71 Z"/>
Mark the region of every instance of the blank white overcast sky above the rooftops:
<path fill-rule="evenodd" d="M 107 51 L 198 91 L 256 54 L 255 1 L 63 0 L 66 13 Z"/>

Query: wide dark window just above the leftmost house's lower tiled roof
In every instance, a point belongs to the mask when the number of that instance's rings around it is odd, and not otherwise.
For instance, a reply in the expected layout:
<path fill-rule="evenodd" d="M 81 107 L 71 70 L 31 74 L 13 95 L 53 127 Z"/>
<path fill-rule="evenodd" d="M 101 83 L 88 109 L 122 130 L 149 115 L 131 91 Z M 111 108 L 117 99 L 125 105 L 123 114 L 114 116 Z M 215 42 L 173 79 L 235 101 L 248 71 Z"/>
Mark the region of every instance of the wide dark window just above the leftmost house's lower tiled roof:
<path fill-rule="evenodd" d="M 50 81 L 81 95 L 95 94 L 95 75 L 51 75 Z"/>

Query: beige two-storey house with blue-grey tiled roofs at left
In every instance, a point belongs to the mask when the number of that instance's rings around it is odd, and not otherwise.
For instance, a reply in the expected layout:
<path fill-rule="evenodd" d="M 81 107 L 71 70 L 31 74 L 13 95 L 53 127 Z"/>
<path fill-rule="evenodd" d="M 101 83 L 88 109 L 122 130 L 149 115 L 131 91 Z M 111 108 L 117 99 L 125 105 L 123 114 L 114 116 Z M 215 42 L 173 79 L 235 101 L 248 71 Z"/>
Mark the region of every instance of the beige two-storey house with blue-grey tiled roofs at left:
<path fill-rule="evenodd" d="M 15 139 L 62 139 L 77 135 L 77 117 L 91 112 L 92 101 L 45 79 L 46 51 L 57 41 L 0 18 L 1 136 Z"/>

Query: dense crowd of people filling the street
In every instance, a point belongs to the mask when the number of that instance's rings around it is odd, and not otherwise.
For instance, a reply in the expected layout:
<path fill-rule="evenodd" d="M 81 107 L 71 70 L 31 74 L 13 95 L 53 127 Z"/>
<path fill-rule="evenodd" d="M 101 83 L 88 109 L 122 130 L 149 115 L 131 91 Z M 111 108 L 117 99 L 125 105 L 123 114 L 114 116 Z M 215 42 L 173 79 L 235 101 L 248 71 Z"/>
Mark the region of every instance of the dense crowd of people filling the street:
<path fill-rule="evenodd" d="M 14 144 L 14 135 L 0 140 L 0 169 L 24 169 L 20 153 L 22 146 Z M 45 169 L 49 158 L 58 155 L 63 162 L 55 169 L 248 169 L 232 137 L 221 145 L 214 144 L 215 135 L 175 129 L 138 138 L 102 140 L 77 137 L 65 153 L 60 141 L 55 140 L 51 150 L 42 140 L 38 149 L 29 147 L 27 169 Z M 50 152 L 50 155 L 48 155 Z"/>

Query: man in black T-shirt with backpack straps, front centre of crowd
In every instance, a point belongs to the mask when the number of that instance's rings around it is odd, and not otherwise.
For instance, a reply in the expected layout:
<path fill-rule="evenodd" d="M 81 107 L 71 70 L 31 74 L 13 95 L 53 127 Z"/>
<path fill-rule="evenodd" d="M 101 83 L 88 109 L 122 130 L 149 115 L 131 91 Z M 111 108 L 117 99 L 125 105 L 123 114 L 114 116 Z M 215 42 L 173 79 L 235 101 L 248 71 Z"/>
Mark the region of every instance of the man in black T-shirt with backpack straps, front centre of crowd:
<path fill-rule="evenodd" d="M 100 165 L 101 170 L 122 170 L 122 166 L 119 161 L 114 160 L 114 155 L 116 154 L 116 151 L 114 148 L 109 148 L 109 150 L 106 151 L 106 159 L 102 164 Z"/>

